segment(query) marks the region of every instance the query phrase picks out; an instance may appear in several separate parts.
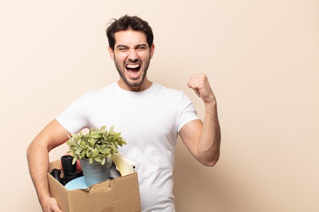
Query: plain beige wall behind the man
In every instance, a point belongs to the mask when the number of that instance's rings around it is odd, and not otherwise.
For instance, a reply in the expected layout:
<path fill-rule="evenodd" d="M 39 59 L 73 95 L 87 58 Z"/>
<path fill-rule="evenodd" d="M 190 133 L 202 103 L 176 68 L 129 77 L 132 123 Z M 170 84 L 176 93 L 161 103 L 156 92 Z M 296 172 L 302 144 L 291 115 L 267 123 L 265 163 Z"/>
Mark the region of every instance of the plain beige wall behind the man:
<path fill-rule="evenodd" d="M 118 79 L 104 28 L 125 13 L 153 28 L 150 80 L 184 90 L 203 117 L 186 84 L 205 72 L 218 100 L 218 164 L 177 143 L 177 211 L 319 211 L 319 3 L 302 0 L 0 3 L 1 211 L 41 211 L 26 147 L 72 101 Z"/>

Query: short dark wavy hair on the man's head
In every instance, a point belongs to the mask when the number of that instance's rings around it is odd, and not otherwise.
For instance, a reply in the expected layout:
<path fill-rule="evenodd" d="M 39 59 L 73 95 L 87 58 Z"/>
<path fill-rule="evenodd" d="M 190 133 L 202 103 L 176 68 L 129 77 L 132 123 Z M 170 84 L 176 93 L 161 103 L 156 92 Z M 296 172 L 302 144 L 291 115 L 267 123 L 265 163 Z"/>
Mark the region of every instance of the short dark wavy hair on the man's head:
<path fill-rule="evenodd" d="M 119 31 L 125 31 L 128 29 L 134 31 L 141 31 L 145 33 L 148 47 L 151 47 L 153 44 L 153 32 L 152 28 L 148 25 L 148 23 L 137 16 L 128 16 L 124 15 L 120 17 L 118 20 L 111 19 L 110 25 L 107 27 L 105 32 L 107 33 L 109 45 L 112 50 L 114 50 L 115 38 L 114 34 Z"/>

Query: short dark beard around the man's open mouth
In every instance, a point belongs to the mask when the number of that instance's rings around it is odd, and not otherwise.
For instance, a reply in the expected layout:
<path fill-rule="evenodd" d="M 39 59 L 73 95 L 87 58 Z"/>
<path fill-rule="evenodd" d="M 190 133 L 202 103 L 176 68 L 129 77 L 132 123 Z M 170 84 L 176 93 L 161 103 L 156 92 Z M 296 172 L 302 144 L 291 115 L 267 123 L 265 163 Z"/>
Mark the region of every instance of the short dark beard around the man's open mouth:
<path fill-rule="evenodd" d="M 139 86 L 142 84 L 142 82 L 144 81 L 144 78 L 146 76 L 146 73 L 147 73 L 147 70 L 148 70 L 148 67 L 149 67 L 149 63 L 150 63 L 150 55 L 149 57 L 146 59 L 145 61 L 145 64 L 142 63 L 142 61 L 139 59 L 139 63 L 141 64 L 141 68 L 140 68 L 140 71 L 142 72 L 141 73 L 141 76 L 138 78 L 138 79 L 129 79 L 125 76 L 125 66 L 123 64 L 120 64 L 116 58 L 115 58 L 115 55 L 114 55 L 114 64 L 115 64 L 115 67 L 116 67 L 116 70 L 118 71 L 118 73 L 120 74 L 120 77 L 123 79 L 123 81 L 129 85 L 129 86 L 132 86 L 132 87 L 135 87 L 135 86 Z M 143 65 L 143 66 L 142 66 Z M 143 69 L 142 69 L 143 67 Z"/>

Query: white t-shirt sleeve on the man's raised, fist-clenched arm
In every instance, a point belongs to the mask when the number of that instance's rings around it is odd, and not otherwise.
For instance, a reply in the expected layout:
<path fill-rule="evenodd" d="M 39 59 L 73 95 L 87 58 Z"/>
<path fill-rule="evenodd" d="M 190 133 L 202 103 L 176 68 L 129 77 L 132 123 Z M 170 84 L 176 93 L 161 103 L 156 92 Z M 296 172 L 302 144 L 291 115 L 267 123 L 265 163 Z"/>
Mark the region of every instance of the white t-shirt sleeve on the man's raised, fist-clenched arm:
<path fill-rule="evenodd" d="M 177 126 L 178 132 L 185 124 L 196 119 L 200 119 L 200 118 L 197 117 L 197 112 L 195 110 L 193 102 L 190 100 L 190 98 L 187 95 L 183 93 L 182 109 L 178 119 L 178 126 Z"/>

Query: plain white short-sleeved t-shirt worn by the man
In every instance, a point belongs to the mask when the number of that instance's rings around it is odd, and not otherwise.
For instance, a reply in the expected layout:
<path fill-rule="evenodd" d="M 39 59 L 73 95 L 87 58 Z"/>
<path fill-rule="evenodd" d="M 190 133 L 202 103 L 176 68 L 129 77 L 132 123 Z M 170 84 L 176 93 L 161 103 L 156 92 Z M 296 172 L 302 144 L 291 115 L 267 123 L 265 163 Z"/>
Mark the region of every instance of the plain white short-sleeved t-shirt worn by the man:
<path fill-rule="evenodd" d="M 70 133 L 114 125 L 127 145 L 119 152 L 136 162 L 143 212 L 174 212 L 174 149 L 179 130 L 199 119 L 181 91 L 152 83 L 142 92 L 112 83 L 88 92 L 57 118 Z"/>

